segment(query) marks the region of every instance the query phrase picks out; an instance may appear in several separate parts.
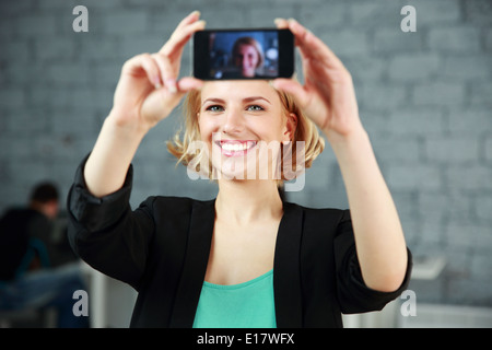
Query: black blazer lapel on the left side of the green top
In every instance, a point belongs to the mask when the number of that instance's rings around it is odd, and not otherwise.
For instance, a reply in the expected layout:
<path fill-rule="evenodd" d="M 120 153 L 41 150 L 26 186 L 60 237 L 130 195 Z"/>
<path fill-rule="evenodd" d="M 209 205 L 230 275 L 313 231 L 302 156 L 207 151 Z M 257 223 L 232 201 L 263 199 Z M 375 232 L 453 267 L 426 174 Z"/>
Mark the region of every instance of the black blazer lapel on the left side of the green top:
<path fill-rule="evenodd" d="M 191 328 L 194 325 L 212 244 L 214 203 L 214 199 L 194 202 L 183 275 L 171 317 L 172 328 Z"/>

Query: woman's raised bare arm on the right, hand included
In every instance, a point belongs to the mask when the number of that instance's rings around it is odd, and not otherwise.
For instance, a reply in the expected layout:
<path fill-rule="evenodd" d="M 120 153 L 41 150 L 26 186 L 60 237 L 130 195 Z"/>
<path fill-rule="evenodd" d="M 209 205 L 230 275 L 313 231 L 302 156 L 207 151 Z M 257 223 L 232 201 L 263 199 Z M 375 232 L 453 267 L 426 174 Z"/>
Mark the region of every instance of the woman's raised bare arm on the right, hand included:
<path fill-rule="evenodd" d="M 331 144 L 345 185 L 358 258 L 364 282 L 378 291 L 397 290 L 407 271 L 407 247 L 400 220 L 359 118 L 352 78 L 338 57 L 294 20 L 289 27 L 303 58 L 304 85 L 273 82 L 291 93 Z"/>

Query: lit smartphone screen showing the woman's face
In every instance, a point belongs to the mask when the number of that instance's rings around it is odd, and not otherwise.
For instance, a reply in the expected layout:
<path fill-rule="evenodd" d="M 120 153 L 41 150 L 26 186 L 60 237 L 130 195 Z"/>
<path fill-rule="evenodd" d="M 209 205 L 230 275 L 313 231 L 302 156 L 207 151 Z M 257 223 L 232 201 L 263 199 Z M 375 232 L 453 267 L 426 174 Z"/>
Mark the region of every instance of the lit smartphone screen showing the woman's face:
<path fill-rule="evenodd" d="M 278 74 L 276 32 L 218 32 L 210 36 L 210 74 L 215 79 Z"/>

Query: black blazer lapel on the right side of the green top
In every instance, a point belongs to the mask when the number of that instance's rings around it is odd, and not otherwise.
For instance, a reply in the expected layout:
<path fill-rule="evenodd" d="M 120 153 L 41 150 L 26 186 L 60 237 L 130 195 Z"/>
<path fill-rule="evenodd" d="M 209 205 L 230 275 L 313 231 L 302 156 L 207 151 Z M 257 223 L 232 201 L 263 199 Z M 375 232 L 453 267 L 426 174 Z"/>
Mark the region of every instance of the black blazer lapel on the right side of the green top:
<path fill-rule="evenodd" d="M 284 202 L 283 206 L 283 218 L 277 235 L 273 262 L 277 326 L 301 328 L 303 306 L 300 255 L 303 211 L 301 207 L 289 202 Z"/>

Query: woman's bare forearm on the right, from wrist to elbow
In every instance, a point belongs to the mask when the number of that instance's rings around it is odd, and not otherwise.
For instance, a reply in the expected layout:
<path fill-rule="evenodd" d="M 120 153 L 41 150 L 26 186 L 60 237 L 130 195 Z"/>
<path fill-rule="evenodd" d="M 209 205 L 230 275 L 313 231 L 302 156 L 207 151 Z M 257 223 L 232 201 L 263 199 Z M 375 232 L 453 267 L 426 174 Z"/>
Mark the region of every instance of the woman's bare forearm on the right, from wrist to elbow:
<path fill-rule="evenodd" d="M 345 184 L 355 245 L 367 287 L 394 291 L 407 269 L 407 247 L 398 212 L 361 127 L 350 136 L 326 133 Z"/>

